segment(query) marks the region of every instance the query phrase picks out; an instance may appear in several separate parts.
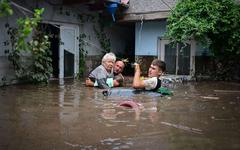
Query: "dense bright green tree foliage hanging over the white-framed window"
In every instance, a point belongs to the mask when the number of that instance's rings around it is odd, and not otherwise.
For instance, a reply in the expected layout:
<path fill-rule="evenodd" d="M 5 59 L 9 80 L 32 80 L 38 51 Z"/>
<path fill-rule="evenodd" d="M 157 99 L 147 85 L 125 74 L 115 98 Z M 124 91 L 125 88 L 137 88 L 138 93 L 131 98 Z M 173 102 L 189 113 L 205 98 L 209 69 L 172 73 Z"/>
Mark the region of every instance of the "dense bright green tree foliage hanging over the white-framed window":
<path fill-rule="evenodd" d="M 233 0 L 180 0 L 168 18 L 167 37 L 194 38 L 215 55 L 240 54 L 240 6 Z"/>

